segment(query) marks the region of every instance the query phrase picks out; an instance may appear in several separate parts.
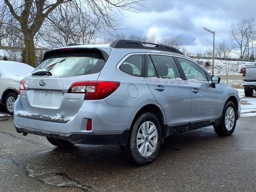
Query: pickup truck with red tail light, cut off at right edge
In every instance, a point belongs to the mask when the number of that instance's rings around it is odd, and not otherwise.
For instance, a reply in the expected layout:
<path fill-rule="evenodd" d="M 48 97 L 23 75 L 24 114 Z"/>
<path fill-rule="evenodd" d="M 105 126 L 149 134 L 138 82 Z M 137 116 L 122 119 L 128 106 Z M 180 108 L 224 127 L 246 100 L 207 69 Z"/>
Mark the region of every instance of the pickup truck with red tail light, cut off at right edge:
<path fill-rule="evenodd" d="M 252 96 L 253 90 L 256 91 L 256 61 L 254 65 L 244 66 L 242 68 L 242 85 L 244 86 L 245 96 Z"/>

